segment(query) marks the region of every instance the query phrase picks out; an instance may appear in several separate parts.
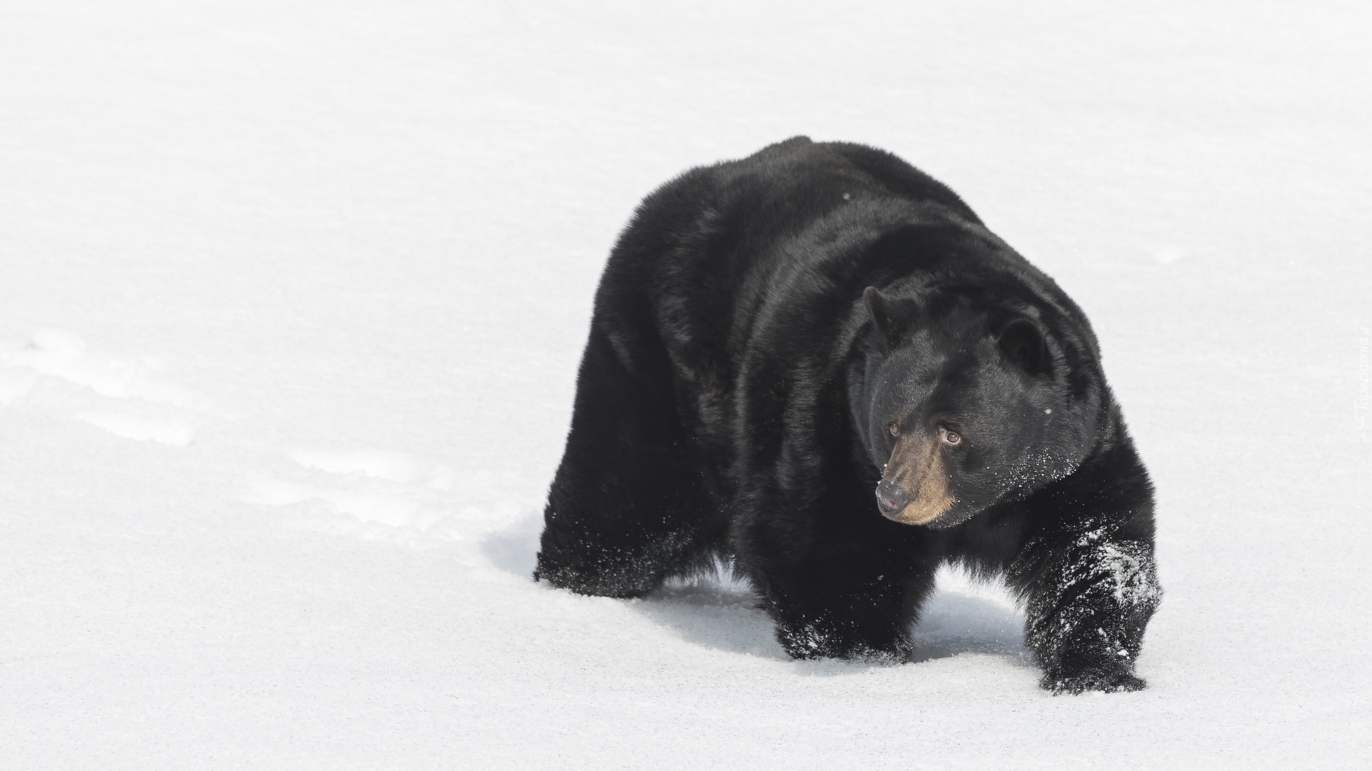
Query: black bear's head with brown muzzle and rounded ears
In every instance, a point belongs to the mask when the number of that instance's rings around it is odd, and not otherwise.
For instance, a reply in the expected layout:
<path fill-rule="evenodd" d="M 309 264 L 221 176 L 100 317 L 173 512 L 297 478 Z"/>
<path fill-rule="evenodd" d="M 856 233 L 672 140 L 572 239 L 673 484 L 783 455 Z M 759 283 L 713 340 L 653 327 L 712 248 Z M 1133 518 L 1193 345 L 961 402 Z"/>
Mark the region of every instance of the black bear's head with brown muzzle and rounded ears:
<path fill-rule="evenodd" d="M 884 516 L 954 527 L 1081 464 L 1099 390 L 1074 392 L 1062 346 L 1028 306 L 971 288 L 914 299 L 868 287 L 863 302 L 849 402 Z"/>

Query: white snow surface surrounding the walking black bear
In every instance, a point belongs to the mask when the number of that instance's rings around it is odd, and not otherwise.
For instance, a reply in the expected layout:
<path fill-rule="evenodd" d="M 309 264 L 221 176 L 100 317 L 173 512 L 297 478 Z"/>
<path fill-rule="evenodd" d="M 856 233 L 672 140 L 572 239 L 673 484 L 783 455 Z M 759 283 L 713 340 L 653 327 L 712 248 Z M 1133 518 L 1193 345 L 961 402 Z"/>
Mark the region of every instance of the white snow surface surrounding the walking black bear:
<path fill-rule="evenodd" d="M 5 0 L 0 767 L 1361 767 L 1369 16 Z M 1147 690 L 1048 696 L 955 572 L 906 665 L 790 661 L 730 580 L 531 582 L 619 228 L 801 133 L 1089 314 L 1158 487 Z"/>

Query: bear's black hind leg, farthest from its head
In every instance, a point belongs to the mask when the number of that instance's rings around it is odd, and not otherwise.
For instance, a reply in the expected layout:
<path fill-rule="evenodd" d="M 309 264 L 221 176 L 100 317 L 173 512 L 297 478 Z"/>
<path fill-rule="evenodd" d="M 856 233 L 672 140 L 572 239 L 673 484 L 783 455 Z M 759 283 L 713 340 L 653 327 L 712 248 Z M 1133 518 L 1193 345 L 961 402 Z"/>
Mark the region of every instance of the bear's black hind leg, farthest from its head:
<path fill-rule="evenodd" d="M 534 579 L 580 594 L 639 597 L 723 539 L 686 458 L 665 354 L 631 359 L 634 370 L 626 358 L 591 331 L 543 512 Z"/>

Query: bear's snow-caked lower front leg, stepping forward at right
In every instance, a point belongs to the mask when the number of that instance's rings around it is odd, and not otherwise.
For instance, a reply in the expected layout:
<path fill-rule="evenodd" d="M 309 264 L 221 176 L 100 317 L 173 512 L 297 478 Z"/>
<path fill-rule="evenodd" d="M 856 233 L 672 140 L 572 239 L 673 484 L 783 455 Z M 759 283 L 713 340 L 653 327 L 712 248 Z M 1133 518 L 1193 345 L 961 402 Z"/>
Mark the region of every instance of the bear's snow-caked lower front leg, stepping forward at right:
<path fill-rule="evenodd" d="M 1026 594 L 1025 645 L 1054 693 L 1133 691 L 1143 631 L 1162 590 L 1151 539 L 1126 539 L 1118 524 L 1040 535 L 1011 579 Z M 1018 580 L 1014 580 L 1018 579 Z"/>

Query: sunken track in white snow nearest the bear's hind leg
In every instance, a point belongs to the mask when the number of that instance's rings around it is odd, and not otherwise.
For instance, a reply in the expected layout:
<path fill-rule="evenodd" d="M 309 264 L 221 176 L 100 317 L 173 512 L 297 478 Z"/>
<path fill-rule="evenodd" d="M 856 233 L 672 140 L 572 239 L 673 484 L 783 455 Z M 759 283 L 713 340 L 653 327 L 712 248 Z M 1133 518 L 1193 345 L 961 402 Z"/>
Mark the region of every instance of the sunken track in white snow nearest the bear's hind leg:
<path fill-rule="evenodd" d="M 391 450 L 298 450 L 289 458 L 289 479 L 252 480 L 244 499 L 288 509 L 291 524 L 305 530 L 401 542 L 458 538 L 435 527 L 453 513 L 447 466 Z"/>

